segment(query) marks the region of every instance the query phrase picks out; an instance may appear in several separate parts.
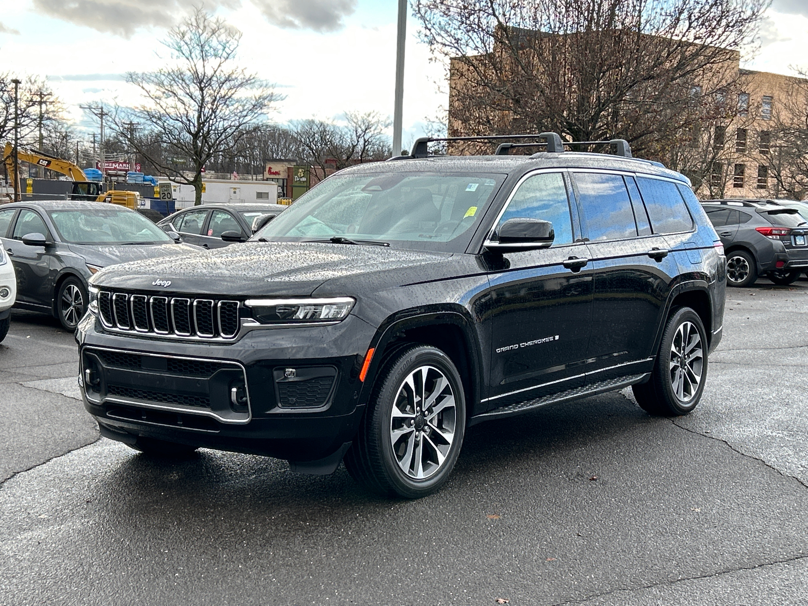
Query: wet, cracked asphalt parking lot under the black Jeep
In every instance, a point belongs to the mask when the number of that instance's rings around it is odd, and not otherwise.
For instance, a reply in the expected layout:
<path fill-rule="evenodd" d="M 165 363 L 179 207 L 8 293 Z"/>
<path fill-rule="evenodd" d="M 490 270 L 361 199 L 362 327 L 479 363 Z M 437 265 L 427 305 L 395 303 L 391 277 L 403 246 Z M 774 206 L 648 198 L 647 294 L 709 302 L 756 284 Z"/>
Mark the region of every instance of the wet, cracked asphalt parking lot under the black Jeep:
<path fill-rule="evenodd" d="M 0 346 L 0 604 L 808 604 L 808 281 L 727 294 L 698 409 L 473 427 L 438 494 L 99 439 L 71 335 Z"/>

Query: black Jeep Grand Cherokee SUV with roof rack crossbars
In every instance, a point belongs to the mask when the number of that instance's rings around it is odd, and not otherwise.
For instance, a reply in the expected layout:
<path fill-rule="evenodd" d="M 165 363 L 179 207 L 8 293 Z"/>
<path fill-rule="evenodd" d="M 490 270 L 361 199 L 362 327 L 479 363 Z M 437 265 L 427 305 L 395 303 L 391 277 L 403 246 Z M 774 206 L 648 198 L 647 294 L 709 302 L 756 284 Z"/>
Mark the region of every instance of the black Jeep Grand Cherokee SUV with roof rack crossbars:
<path fill-rule="evenodd" d="M 633 386 L 701 398 L 725 259 L 688 179 L 619 154 L 353 166 L 250 242 L 110 267 L 78 326 L 103 436 L 249 452 L 419 497 L 467 427 Z M 498 150 L 507 151 L 507 146 Z"/>

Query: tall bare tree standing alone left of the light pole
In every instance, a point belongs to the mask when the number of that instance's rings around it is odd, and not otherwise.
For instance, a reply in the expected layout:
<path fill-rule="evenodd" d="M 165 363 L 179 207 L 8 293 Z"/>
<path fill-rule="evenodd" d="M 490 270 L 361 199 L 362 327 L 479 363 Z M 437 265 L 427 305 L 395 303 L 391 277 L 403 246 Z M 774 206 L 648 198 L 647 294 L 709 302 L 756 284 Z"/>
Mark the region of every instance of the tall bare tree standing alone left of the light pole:
<path fill-rule="evenodd" d="M 202 201 L 202 172 L 214 157 L 238 148 L 242 137 L 267 115 L 281 97 L 255 74 L 235 65 L 241 33 L 221 18 L 197 8 L 163 42 L 174 65 L 156 72 L 130 72 L 127 81 L 140 88 L 144 103 L 119 107 L 116 133 L 151 166 L 180 183 L 193 185 Z M 149 133 L 134 133 L 137 123 Z"/>

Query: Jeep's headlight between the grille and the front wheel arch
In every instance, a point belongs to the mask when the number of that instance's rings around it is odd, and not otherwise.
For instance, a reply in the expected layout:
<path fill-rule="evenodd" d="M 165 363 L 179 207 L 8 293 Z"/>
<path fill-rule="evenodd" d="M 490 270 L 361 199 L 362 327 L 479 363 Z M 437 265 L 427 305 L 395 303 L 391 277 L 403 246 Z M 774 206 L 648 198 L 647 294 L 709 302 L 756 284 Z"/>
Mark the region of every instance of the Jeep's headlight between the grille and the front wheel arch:
<path fill-rule="evenodd" d="M 305 324 L 339 322 L 347 318 L 356 304 L 353 297 L 322 299 L 248 299 L 253 318 L 262 324 Z"/>

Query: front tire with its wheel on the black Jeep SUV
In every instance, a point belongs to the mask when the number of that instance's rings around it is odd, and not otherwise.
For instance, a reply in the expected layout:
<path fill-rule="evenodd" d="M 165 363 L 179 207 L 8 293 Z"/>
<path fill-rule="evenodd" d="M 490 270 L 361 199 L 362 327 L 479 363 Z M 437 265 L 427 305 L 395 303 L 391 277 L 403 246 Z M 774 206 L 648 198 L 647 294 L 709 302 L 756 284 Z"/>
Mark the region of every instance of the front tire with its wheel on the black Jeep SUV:
<path fill-rule="evenodd" d="M 383 364 L 345 466 L 368 490 L 419 499 L 448 480 L 464 434 L 465 395 L 452 360 L 435 347 L 405 347 Z"/>

